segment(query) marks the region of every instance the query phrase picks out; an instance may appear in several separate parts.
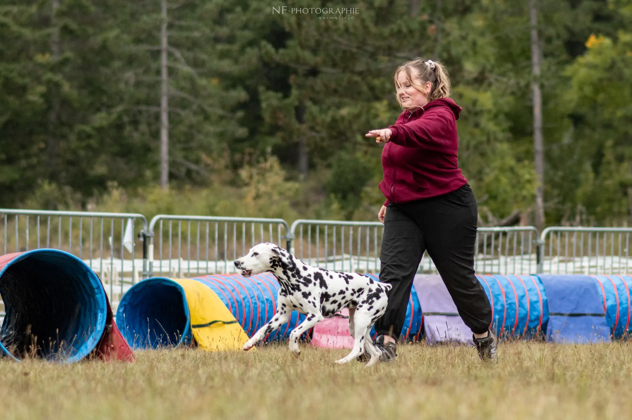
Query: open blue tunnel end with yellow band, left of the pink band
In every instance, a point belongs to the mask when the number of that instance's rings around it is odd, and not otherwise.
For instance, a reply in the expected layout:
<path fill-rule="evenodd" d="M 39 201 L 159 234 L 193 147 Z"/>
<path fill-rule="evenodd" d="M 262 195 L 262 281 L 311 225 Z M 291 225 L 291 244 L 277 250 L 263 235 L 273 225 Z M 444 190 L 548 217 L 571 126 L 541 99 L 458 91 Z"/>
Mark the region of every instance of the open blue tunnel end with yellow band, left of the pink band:
<path fill-rule="evenodd" d="M 270 273 L 249 278 L 150 278 L 123 295 L 116 319 L 135 349 L 193 342 L 207 350 L 241 349 L 276 313 L 278 290 L 279 283 Z M 292 312 L 288 323 L 264 341 L 287 340 L 304 319 L 304 315 Z"/>

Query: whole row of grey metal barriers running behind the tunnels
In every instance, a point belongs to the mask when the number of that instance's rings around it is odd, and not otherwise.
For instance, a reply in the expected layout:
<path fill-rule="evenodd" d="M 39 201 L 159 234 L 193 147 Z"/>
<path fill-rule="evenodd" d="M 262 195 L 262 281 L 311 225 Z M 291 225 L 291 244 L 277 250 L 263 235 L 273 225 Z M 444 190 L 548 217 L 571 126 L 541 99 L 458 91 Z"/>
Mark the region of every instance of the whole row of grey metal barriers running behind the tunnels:
<path fill-rule="evenodd" d="M 260 242 L 285 245 L 310 265 L 377 273 L 384 225 L 378 221 L 296 220 L 138 213 L 0 209 L 3 254 L 61 249 L 82 259 L 111 301 L 141 278 L 236 273 L 233 261 Z M 138 233 L 138 235 L 137 235 Z M 137 246 L 136 238 L 142 246 Z M 480 274 L 626 274 L 632 270 L 632 228 L 480 227 Z M 423 257 L 418 273 L 437 273 Z M 0 316 L 2 312 L 0 311 Z"/>

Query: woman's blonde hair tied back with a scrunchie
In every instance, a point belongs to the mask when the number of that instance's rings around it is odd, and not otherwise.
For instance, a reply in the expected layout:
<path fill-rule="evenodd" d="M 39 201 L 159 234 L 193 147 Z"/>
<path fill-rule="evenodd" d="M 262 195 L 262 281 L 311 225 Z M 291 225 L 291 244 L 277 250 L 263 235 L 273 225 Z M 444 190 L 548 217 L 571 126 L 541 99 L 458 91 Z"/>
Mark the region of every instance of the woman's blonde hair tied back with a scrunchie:
<path fill-rule="evenodd" d="M 430 88 L 430 94 L 428 94 L 428 102 L 434 101 L 441 97 L 450 97 L 450 77 L 447 74 L 446 66 L 441 61 L 425 60 L 421 57 L 415 58 L 411 61 L 406 61 L 403 65 L 399 66 L 395 71 L 395 89 L 399 87 L 397 77 L 400 71 L 404 71 L 406 74 L 406 81 L 410 83 L 415 89 L 425 92 L 425 87 L 417 85 L 413 82 L 415 75 L 422 80 L 422 83 L 430 82 L 432 87 Z M 396 95 L 399 105 L 404 108 L 401 103 L 399 95 Z"/>

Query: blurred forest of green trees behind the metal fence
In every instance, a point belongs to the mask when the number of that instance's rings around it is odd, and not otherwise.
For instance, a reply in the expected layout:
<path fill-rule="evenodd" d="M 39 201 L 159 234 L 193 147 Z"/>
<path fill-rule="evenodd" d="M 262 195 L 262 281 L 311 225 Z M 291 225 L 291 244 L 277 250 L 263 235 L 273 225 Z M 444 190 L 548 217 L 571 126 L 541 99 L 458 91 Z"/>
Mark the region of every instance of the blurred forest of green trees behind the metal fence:
<path fill-rule="evenodd" d="M 480 223 L 533 223 L 528 2 L 0 0 L 0 207 L 375 220 L 394 70 L 439 58 Z M 273 7 L 357 7 L 344 20 Z M 546 222 L 632 221 L 632 1 L 538 0 Z M 350 17 L 353 17 L 351 19 Z"/>

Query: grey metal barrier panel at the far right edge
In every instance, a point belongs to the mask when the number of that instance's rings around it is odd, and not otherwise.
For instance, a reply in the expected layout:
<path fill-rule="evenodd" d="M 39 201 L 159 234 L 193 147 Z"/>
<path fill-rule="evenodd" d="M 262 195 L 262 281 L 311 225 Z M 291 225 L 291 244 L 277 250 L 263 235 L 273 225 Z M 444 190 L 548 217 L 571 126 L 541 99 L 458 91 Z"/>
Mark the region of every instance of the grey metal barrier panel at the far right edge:
<path fill-rule="evenodd" d="M 545 228 L 538 273 L 622 275 L 632 269 L 632 228 Z"/>

